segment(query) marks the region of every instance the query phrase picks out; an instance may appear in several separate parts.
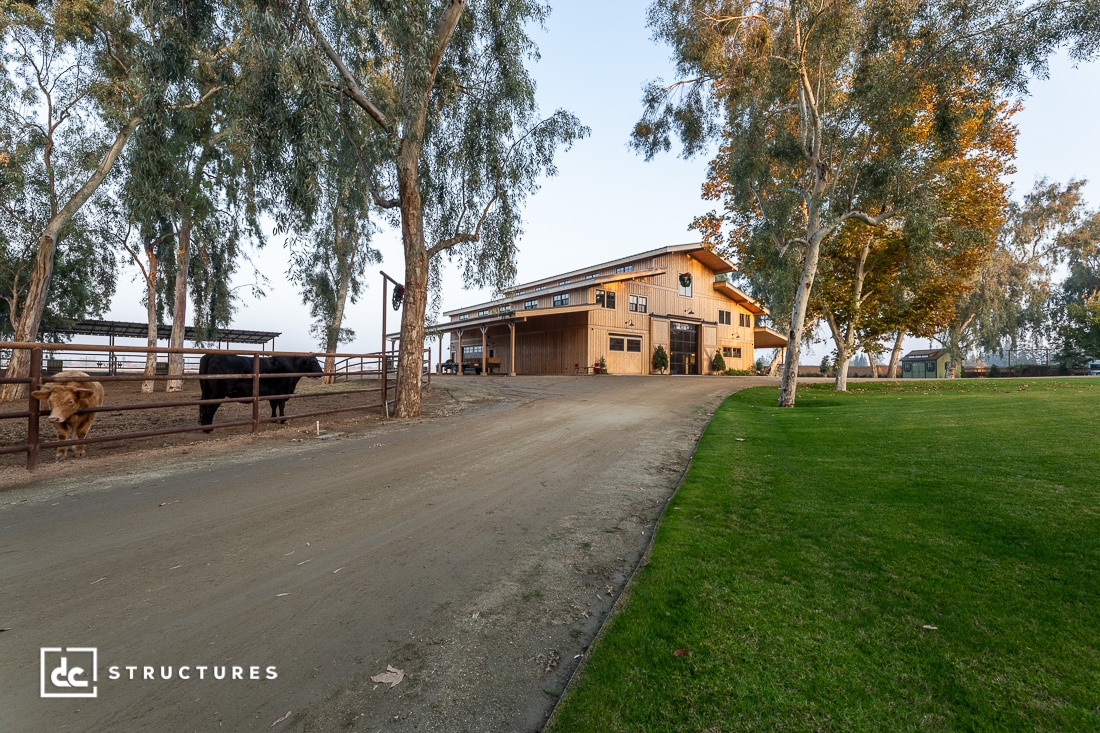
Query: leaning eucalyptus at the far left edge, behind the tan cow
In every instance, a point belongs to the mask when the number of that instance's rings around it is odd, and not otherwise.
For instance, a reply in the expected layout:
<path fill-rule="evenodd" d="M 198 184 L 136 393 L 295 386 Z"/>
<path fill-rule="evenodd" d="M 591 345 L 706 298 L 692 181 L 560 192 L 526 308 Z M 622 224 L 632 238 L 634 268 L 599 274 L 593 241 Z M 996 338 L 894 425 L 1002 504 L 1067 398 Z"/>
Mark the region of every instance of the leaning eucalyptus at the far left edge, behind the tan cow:
<path fill-rule="evenodd" d="M 0 201 L 14 225 L 6 227 L 7 254 L 20 260 L 13 265 L 11 256 L 8 267 L 21 273 L 11 280 L 9 317 L 13 340 L 34 341 L 58 244 L 88 231 L 78 214 L 140 124 L 141 88 L 129 78 L 134 39 L 125 6 L 7 2 L 2 13 Z M 30 351 L 16 350 L 7 375 L 25 375 L 29 362 Z M 6 384 L 0 401 L 23 394 L 24 385 Z"/>

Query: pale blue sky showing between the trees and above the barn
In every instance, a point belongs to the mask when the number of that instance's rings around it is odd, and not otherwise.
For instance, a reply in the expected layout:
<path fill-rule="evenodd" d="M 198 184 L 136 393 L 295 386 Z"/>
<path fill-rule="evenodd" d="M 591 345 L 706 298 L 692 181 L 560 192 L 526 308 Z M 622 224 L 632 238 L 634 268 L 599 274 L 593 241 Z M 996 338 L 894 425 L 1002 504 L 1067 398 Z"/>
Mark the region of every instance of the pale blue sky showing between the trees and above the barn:
<path fill-rule="evenodd" d="M 653 161 L 630 150 L 630 130 L 641 113 L 641 91 L 649 80 L 671 80 L 670 50 L 658 45 L 646 28 L 648 0 L 592 2 L 550 0 L 553 10 L 546 30 L 534 33 L 541 58 L 531 66 L 543 113 L 563 108 L 592 130 L 571 150 L 560 151 L 559 173 L 544 179 L 525 207 L 524 234 L 518 242 L 518 283 L 606 262 L 636 252 L 698 240 L 689 230 L 692 219 L 712 208 L 700 196 L 707 160 L 683 160 L 673 152 Z M 1013 188 L 1022 195 L 1047 177 L 1068 182 L 1090 179 L 1086 196 L 1091 208 L 1100 204 L 1100 146 L 1094 144 L 1100 119 L 1100 63 L 1075 67 L 1065 56 L 1050 63 L 1049 78 L 1034 80 L 1031 96 L 1015 122 L 1018 173 Z M 367 269 L 367 289 L 349 304 L 344 326 L 354 341 L 341 352 L 382 348 L 382 276 L 397 280 L 404 272 L 398 231 L 380 232 L 373 244 L 383 262 Z M 253 261 L 270 281 L 267 296 L 242 303 L 233 328 L 280 331 L 278 350 L 316 350 L 310 337 L 309 307 L 298 286 L 286 278 L 287 253 L 272 239 Z M 119 293 L 105 318 L 144 321 L 141 287 L 130 270 L 119 278 Z M 242 267 L 233 285 L 246 287 L 255 277 Z M 455 309 L 492 299 L 488 291 L 464 288 L 457 269 L 443 270 L 442 309 Z M 388 308 L 388 306 L 386 306 Z M 190 318 L 188 318 L 190 322 Z M 387 313 L 388 330 L 397 315 Z M 925 348 L 924 343 L 912 344 Z M 437 347 L 438 349 L 438 347 Z M 815 346 L 803 361 L 814 363 L 832 347 Z"/>

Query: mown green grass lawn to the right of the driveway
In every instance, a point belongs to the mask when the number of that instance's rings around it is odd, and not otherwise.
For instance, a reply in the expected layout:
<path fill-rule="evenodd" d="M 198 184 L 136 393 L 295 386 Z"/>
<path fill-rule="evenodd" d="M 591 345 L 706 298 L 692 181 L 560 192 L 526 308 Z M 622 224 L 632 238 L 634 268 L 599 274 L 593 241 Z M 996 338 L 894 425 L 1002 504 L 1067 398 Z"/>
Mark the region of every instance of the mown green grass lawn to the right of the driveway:
<path fill-rule="evenodd" d="M 715 414 L 547 730 L 1100 730 L 1100 380 L 776 401 Z"/>

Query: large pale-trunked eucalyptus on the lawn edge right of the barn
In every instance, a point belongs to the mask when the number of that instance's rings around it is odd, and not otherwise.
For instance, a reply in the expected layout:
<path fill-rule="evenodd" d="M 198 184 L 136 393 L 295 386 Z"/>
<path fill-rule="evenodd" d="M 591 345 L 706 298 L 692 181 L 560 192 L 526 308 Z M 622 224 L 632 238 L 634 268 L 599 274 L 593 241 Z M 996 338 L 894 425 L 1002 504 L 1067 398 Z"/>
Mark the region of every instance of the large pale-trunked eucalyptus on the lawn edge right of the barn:
<path fill-rule="evenodd" d="M 779 253 L 798 267 L 781 406 L 794 404 L 822 245 L 919 205 L 928 162 L 974 114 L 956 90 L 988 101 L 1025 88 L 1064 40 L 1092 50 L 1098 13 L 1065 0 L 653 2 L 681 78 L 649 85 L 632 142 L 647 157 L 673 136 L 684 155 L 716 145 L 707 194 L 723 208 L 701 228 L 724 231 L 743 262 Z M 928 90 L 936 134 L 922 140 Z"/>

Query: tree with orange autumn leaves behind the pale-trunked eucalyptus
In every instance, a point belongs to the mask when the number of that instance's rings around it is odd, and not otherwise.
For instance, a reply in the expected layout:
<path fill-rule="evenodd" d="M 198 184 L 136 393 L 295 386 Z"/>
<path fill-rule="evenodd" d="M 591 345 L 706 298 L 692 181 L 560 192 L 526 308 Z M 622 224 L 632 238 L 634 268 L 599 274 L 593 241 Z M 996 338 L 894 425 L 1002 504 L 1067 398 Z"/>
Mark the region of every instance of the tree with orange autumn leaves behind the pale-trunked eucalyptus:
<path fill-rule="evenodd" d="M 838 391 L 857 349 L 873 353 L 898 332 L 932 338 L 950 324 L 958 298 L 997 245 L 1009 208 L 1004 176 L 1013 169 L 1016 107 L 967 90 L 956 96 L 967 113 L 954 120 L 945 152 L 927 156 L 925 186 L 904 217 L 877 229 L 847 225 L 823 253 L 813 302 L 836 347 Z M 914 145 L 937 134 L 939 101 L 926 98 Z M 958 353 L 953 363 L 961 363 Z"/>

